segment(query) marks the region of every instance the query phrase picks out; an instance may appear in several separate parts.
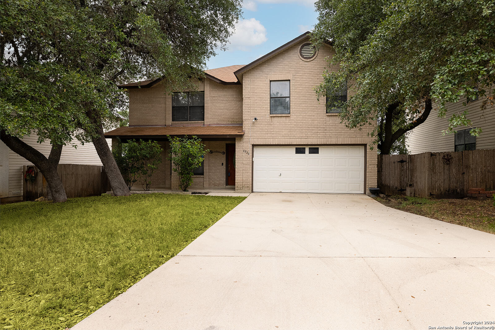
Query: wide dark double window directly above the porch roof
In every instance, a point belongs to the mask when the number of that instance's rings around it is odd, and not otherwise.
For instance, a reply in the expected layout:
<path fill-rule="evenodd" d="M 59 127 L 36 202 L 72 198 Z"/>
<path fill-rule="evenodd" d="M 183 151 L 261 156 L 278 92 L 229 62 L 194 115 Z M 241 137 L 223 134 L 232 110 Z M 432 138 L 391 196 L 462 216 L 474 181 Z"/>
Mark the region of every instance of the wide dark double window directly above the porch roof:
<path fill-rule="evenodd" d="M 174 93 L 172 121 L 204 120 L 204 92 Z"/>

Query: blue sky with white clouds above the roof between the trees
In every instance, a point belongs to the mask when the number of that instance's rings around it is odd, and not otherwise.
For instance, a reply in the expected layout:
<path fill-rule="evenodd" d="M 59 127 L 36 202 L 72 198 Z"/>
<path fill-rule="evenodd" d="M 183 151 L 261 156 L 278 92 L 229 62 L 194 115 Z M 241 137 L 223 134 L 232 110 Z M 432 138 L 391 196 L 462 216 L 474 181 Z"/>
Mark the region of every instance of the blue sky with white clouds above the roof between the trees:
<path fill-rule="evenodd" d="M 218 49 L 207 69 L 248 64 L 311 30 L 317 18 L 313 0 L 244 0 L 229 50 Z"/>

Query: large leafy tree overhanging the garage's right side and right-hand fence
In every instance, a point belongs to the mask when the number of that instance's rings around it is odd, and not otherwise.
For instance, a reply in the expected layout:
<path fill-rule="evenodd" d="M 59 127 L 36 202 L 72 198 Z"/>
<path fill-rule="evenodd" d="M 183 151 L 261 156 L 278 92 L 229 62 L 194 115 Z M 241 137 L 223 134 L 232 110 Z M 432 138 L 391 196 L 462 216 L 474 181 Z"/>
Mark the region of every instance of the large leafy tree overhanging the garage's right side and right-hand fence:
<path fill-rule="evenodd" d="M 325 71 L 316 92 L 334 94 L 347 81 L 355 94 L 341 118 L 349 128 L 373 126 L 381 153 L 434 105 L 439 116 L 448 102 L 479 97 L 482 107 L 493 105 L 494 1 L 319 0 L 316 8 L 314 39 L 333 42 L 329 65 L 340 65 Z M 444 132 L 460 125 L 471 126 L 467 111 L 452 114 Z"/>

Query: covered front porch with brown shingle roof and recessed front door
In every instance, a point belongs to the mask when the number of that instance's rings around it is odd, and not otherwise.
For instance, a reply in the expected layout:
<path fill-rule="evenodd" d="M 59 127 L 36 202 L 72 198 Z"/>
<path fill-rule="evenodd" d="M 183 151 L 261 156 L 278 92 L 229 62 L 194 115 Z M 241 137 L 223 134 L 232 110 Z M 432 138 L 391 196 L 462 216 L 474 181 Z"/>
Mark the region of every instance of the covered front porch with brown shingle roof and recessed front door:
<path fill-rule="evenodd" d="M 118 141 L 152 140 L 162 147 L 162 162 L 154 170 L 151 177 L 150 191 L 179 191 L 179 177 L 172 171 L 172 163 L 168 159 L 170 144 L 168 136 L 197 136 L 209 151 L 204 155 L 200 168 L 195 170 L 193 184 L 189 191 L 235 191 L 235 141 L 243 136 L 242 126 L 181 126 L 181 127 L 120 127 L 108 133 L 106 138 L 112 139 L 112 148 Z M 144 191 L 142 180 L 134 183 L 133 191 Z"/>

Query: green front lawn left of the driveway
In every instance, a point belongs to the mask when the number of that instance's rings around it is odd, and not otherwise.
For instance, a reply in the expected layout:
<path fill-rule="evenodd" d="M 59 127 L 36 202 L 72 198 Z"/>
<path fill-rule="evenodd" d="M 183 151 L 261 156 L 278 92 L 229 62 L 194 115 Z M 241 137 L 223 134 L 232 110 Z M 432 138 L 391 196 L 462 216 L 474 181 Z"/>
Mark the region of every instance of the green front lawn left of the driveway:
<path fill-rule="evenodd" d="M 244 199 L 134 194 L 2 205 L 0 330 L 72 327 Z"/>

